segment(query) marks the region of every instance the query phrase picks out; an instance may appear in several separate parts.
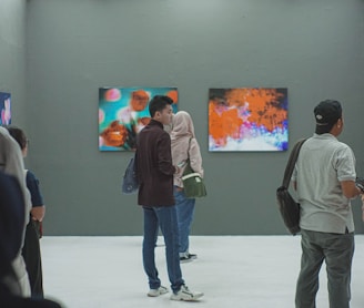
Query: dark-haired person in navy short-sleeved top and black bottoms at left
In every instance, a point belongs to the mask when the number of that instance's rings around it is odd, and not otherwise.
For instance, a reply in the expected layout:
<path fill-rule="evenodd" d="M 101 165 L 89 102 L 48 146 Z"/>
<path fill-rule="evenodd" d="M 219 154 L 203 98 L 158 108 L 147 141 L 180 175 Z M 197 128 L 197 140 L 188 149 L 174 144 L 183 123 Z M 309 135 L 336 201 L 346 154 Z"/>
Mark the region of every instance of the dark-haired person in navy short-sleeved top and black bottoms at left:
<path fill-rule="evenodd" d="M 28 138 L 26 133 L 14 126 L 8 126 L 7 129 L 10 135 L 18 142 L 22 156 L 27 157 Z M 26 177 L 27 187 L 30 192 L 32 208 L 30 211 L 29 223 L 26 227 L 22 256 L 27 266 L 31 296 L 43 298 L 43 278 L 39 238 L 41 237 L 41 222 L 44 218 L 46 206 L 43 196 L 40 192 L 39 181 L 36 175 L 31 171 L 24 170 L 23 176 Z"/>

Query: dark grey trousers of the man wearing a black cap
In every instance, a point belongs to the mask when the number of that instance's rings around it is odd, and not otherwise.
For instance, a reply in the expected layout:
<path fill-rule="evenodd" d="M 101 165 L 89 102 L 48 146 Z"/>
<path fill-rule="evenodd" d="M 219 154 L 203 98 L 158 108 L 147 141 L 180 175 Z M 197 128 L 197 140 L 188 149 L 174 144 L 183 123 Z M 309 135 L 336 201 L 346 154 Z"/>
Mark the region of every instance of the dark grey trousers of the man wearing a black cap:
<path fill-rule="evenodd" d="M 330 308 L 348 308 L 354 233 L 332 234 L 312 230 L 301 230 L 301 233 L 302 258 L 295 307 L 316 307 L 318 273 L 325 260 Z"/>

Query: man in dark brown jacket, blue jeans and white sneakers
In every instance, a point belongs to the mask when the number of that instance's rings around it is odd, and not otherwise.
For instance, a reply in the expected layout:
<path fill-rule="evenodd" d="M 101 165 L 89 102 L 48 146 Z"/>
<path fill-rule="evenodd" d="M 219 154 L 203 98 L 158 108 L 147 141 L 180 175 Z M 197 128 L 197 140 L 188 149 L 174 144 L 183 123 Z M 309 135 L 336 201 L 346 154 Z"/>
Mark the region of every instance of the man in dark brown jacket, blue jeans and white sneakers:
<path fill-rule="evenodd" d="M 138 135 L 136 165 L 139 177 L 138 204 L 144 212 L 143 266 L 149 278 L 148 296 L 166 294 L 161 286 L 155 267 L 154 248 L 159 228 L 165 243 L 168 275 L 172 288 L 172 300 L 196 300 L 202 292 L 192 292 L 184 285 L 180 267 L 179 232 L 173 197 L 171 138 L 163 130 L 172 121 L 172 103 L 169 96 L 156 95 L 150 104 L 151 122 Z"/>

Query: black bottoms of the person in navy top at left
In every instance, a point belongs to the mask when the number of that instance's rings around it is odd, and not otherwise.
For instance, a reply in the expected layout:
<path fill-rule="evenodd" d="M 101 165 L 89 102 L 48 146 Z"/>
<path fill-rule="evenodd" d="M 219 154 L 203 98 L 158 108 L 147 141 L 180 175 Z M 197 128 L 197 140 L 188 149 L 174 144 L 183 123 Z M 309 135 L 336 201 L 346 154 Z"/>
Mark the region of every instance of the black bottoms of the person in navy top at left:
<path fill-rule="evenodd" d="M 36 223 L 30 218 L 26 229 L 22 256 L 27 266 L 31 296 L 43 298 L 42 261 L 40 256 L 39 232 L 37 230 L 37 227 Z"/>

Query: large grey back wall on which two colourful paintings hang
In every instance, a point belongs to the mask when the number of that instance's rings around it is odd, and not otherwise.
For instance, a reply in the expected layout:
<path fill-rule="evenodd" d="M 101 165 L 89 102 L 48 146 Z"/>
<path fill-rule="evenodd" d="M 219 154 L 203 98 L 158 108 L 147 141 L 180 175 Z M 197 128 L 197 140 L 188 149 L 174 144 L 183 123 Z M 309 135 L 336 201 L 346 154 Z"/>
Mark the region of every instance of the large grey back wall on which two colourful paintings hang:
<path fill-rule="evenodd" d="M 141 234 L 136 197 L 120 193 L 132 154 L 98 151 L 98 88 L 171 85 L 193 115 L 209 188 L 193 234 L 285 234 L 275 188 L 289 153 L 209 153 L 208 90 L 289 88 L 291 145 L 313 133 L 318 101 L 340 100 L 341 140 L 363 174 L 363 12 L 360 0 L 29 1 L 28 165 L 46 233 Z"/>

